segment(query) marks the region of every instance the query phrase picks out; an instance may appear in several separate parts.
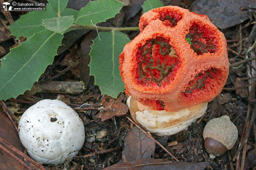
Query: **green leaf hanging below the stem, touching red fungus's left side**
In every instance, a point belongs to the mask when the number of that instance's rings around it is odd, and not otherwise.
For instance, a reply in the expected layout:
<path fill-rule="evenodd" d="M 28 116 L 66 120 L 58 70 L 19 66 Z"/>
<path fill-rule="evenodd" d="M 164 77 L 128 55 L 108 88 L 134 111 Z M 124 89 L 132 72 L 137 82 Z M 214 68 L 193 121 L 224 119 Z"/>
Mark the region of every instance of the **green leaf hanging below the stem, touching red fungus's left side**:
<path fill-rule="evenodd" d="M 100 32 L 99 36 L 93 40 L 89 54 L 90 74 L 95 77 L 95 84 L 100 86 L 102 94 L 116 98 L 124 91 L 118 56 L 130 39 L 120 31 Z"/>

